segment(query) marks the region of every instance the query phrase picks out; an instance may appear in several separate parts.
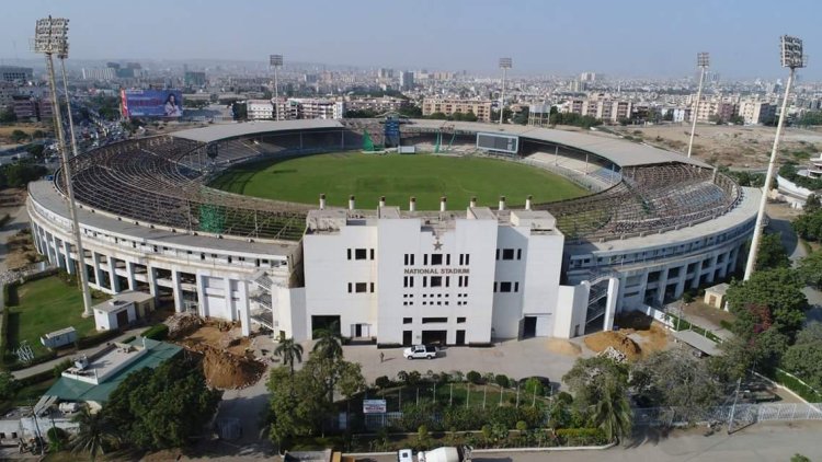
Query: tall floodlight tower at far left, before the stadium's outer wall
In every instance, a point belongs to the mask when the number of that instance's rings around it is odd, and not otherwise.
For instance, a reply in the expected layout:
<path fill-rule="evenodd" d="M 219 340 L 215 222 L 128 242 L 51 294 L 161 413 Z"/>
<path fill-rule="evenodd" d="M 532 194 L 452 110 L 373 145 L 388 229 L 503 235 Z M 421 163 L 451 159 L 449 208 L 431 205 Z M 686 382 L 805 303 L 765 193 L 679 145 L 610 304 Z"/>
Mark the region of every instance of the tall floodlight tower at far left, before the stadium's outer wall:
<path fill-rule="evenodd" d="M 54 74 L 54 59 L 57 55 L 61 60 L 68 57 L 68 22 L 64 18 L 52 18 L 37 20 L 34 32 L 34 51 L 42 53 L 46 56 L 46 71 L 48 72 L 48 83 L 52 89 L 52 107 L 55 126 L 57 128 L 57 143 L 60 148 L 60 158 L 62 161 L 62 177 L 66 182 L 66 192 L 69 199 L 69 215 L 71 216 L 71 228 L 75 234 L 75 244 L 77 246 L 78 270 L 80 274 L 80 286 L 83 292 L 83 316 L 91 316 L 91 292 L 89 291 L 89 277 L 85 272 L 85 251 L 82 245 L 80 232 L 80 222 L 77 219 L 77 203 L 75 201 L 75 188 L 71 184 L 71 163 L 69 162 L 68 149 L 66 147 L 66 136 L 62 130 L 62 119 L 60 114 L 60 101 L 57 97 L 57 82 Z M 65 79 L 65 69 L 64 69 Z M 65 83 L 65 80 L 64 80 Z M 68 94 L 66 95 L 68 99 Z M 69 107 L 69 117 L 71 108 Z M 71 136 L 73 137 L 73 130 Z M 77 154 L 77 147 L 75 147 Z M 66 252 L 66 266 L 69 266 L 70 255 Z"/>

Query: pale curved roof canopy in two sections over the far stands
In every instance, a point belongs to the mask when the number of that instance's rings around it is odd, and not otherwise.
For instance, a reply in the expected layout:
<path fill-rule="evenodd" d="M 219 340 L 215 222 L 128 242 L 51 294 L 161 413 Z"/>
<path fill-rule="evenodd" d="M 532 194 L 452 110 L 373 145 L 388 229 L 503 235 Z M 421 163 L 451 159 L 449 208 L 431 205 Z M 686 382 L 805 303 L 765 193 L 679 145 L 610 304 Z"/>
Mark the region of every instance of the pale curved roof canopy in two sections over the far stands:
<path fill-rule="evenodd" d="M 652 146 L 626 141 L 617 136 L 608 134 L 585 134 L 581 131 L 556 130 L 550 128 L 529 127 L 525 125 L 495 125 L 471 122 L 449 122 L 413 119 L 409 127 L 426 130 L 453 129 L 468 132 L 498 132 L 505 135 L 517 135 L 520 137 L 550 143 L 558 143 L 592 154 L 602 157 L 620 166 L 648 165 L 666 162 L 683 162 L 694 165 L 710 168 L 705 162 L 688 159 L 683 154 Z M 272 131 L 286 130 L 310 130 L 322 128 L 343 128 L 340 120 L 312 119 L 312 120 L 282 120 L 282 122 L 248 122 L 225 125 L 210 125 L 203 128 L 181 130 L 173 134 L 179 138 L 191 139 L 201 142 L 214 142 L 221 139 L 237 138 L 242 136 L 261 135 Z"/>

